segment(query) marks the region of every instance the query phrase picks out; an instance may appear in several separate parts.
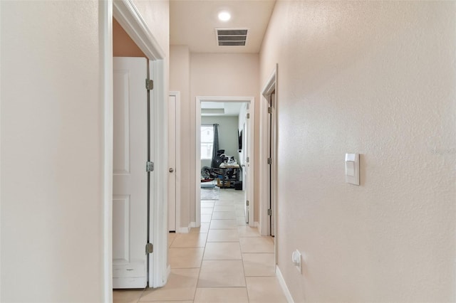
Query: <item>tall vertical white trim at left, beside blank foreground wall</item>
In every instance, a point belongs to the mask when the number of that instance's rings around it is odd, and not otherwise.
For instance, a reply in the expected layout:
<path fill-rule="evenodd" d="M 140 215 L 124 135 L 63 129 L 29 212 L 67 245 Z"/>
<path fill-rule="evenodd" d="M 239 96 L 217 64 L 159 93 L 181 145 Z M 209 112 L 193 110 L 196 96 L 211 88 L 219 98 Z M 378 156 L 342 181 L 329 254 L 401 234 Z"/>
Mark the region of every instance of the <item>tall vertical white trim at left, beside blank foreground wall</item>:
<path fill-rule="evenodd" d="M 103 102 L 103 302 L 113 302 L 113 1 L 100 2 L 100 100 Z"/>

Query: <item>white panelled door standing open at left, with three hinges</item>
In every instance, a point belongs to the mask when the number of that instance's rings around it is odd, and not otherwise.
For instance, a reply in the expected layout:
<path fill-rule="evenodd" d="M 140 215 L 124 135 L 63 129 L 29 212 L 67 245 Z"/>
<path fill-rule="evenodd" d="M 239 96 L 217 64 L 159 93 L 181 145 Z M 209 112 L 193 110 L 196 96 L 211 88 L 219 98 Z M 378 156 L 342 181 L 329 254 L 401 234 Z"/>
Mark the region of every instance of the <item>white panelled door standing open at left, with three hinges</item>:
<path fill-rule="evenodd" d="M 147 285 L 146 58 L 114 58 L 113 288 Z"/>

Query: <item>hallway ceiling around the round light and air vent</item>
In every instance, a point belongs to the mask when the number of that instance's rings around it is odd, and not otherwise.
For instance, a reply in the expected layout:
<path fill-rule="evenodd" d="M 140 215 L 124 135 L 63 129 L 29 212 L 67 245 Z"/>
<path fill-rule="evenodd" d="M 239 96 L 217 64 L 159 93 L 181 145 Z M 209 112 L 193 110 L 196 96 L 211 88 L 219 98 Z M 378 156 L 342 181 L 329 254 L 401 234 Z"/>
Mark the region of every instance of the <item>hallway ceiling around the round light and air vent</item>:
<path fill-rule="evenodd" d="M 171 0 L 170 44 L 192 53 L 259 53 L 275 0 Z M 229 21 L 219 21 L 228 11 Z M 248 29 L 246 46 L 218 46 L 216 28 Z"/>

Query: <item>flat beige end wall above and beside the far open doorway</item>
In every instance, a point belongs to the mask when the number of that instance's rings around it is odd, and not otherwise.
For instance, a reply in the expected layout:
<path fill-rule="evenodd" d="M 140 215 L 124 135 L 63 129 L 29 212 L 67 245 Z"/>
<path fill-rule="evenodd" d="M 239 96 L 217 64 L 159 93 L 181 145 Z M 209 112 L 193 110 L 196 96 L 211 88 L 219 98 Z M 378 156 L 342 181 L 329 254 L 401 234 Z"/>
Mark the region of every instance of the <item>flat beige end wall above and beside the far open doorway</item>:
<path fill-rule="evenodd" d="M 242 96 L 259 98 L 259 55 L 258 54 L 209 54 L 192 53 L 190 55 L 190 120 L 185 126 L 190 129 L 189 159 L 195 155 L 195 98 L 196 96 Z M 258 107 L 255 107 L 258 117 Z M 255 133 L 258 134 L 258 119 L 255 123 Z M 255 137 L 255 147 L 259 146 L 259 136 Z M 255 167 L 258 167 L 258 149 L 255 151 Z M 195 171 L 195 161 L 191 161 L 190 171 Z M 257 169 L 254 178 L 259 178 Z M 195 175 L 191 176 L 195 180 Z M 199 180 L 198 180 L 199 181 Z M 190 213 L 191 221 L 195 221 L 195 183 L 192 183 L 188 196 L 192 197 Z M 254 187 L 255 219 L 258 220 L 259 188 Z M 184 196 L 184 195 L 182 195 Z"/>

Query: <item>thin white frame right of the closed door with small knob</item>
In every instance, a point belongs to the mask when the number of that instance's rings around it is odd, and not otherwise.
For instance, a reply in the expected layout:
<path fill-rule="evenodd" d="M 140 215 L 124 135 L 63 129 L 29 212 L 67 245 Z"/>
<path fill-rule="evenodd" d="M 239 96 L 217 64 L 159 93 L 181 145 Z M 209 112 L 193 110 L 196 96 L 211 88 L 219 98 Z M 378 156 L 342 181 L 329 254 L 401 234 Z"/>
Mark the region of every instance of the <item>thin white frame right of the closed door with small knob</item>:
<path fill-rule="evenodd" d="M 175 141 L 176 141 L 176 150 L 175 150 L 175 157 L 176 157 L 176 164 L 174 167 L 175 176 L 176 176 L 176 200 L 175 200 L 175 231 L 180 228 L 180 92 L 177 91 L 170 91 L 170 97 L 173 96 L 176 98 L 176 134 L 175 134 Z M 168 214 L 170 215 L 170 214 Z"/>

